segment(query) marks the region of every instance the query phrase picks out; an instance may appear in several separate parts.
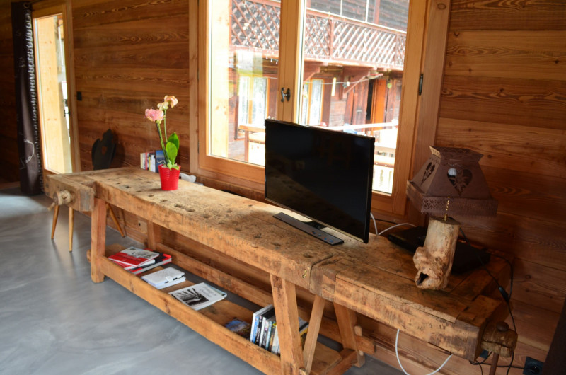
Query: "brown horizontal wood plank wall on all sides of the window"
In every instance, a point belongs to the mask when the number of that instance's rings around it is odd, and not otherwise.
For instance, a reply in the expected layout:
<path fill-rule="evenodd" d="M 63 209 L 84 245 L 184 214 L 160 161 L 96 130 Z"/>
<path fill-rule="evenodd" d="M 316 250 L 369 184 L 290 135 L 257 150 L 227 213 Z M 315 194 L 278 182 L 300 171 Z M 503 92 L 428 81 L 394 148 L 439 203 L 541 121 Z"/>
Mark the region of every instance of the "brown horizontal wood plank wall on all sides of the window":
<path fill-rule="evenodd" d="M 158 148 L 156 129 L 144 119 L 144 110 L 172 94 L 179 105 L 169 113 L 168 124 L 180 135 L 180 164 L 187 171 L 189 1 L 73 2 L 83 170 L 91 169 L 91 145 L 109 127 L 119 142 L 112 167 L 139 165 L 139 153 Z M 0 0 L 0 4 L 4 10 L 0 67 L 13 71 L 10 1 Z M 562 0 L 451 1 L 437 144 L 466 146 L 484 154 L 480 164 L 499 200 L 499 213 L 493 219 L 470 219 L 463 228 L 471 239 L 516 256 L 512 301 L 519 331 L 515 364 L 519 366 L 526 356 L 545 360 L 566 296 L 564 40 L 566 4 Z M 6 167 L 0 168 L 0 177 L 17 179 L 16 117 L 9 110 L 14 103 L 13 76 L 1 76 L 0 89 L 0 103 L 7 110 L 6 126 L 0 127 L 0 159 Z M 237 186 L 221 187 L 246 194 Z M 144 222 L 133 214 L 117 214 L 128 236 L 143 241 Z M 172 246 L 187 246 L 183 238 L 172 236 L 171 241 Z M 225 269 L 231 266 L 216 255 L 207 260 L 207 249 L 195 246 L 194 251 L 205 262 Z M 246 275 L 242 269 L 236 273 L 256 282 L 268 281 Z M 369 339 L 364 350 L 398 367 L 395 332 L 360 320 Z M 416 374 L 438 367 L 446 357 L 405 335 L 400 337 L 399 351 L 405 369 Z M 506 371 L 499 369 L 497 374 Z M 480 371 L 453 357 L 441 373 Z M 519 369 L 509 372 L 521 373 Z"/>

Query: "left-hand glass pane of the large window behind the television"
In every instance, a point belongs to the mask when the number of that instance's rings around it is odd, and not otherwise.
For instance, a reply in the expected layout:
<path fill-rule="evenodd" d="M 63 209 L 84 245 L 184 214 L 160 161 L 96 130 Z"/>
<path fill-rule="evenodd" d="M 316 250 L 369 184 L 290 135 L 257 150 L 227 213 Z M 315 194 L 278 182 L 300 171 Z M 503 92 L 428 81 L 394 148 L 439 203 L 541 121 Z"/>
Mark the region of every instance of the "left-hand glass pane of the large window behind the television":
<path fill-rule="evenodd" d="M 209 16 L 208 154 L 262 164 L 267 116 L 276 117 L 279 4 L 214 0 Z M 265 134 L 265 133 L 264 133 Z"/>

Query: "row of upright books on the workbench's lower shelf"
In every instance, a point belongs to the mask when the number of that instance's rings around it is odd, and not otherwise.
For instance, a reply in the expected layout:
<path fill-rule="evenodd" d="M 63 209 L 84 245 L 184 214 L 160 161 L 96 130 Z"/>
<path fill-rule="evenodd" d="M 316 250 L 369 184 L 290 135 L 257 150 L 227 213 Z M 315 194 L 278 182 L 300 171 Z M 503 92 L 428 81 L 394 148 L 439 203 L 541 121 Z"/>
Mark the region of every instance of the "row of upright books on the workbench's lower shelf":
<path fill-rule="evenodd" d="M 308 322 L 299 317 L 299 335 L 302 345 L 305 343 L 307 331 Z M 273 354 L 280 354 L 279 335 L 277 335 L 277 321 L 273 305 L 267 305 L 253 313 L 250 341 Z"/>

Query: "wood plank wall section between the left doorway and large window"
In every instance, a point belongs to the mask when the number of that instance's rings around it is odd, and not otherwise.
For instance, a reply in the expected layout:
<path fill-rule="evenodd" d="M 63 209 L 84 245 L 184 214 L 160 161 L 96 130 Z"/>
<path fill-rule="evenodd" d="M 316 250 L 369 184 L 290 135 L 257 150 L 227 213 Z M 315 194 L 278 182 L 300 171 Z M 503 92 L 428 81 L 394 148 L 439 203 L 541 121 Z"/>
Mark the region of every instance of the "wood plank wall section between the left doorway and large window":
<path fill-rule="evenodd" d="M 187 169 L 188 1 L 81 1 L 73 16 L 81 167 L 91 168 L 91 145 L 108 128 L 119 142 L 112 166 L 139 166 L 141 152 L 160 148 L 144 111 L 174 95 L 167 131 L 178 133 Z"/>

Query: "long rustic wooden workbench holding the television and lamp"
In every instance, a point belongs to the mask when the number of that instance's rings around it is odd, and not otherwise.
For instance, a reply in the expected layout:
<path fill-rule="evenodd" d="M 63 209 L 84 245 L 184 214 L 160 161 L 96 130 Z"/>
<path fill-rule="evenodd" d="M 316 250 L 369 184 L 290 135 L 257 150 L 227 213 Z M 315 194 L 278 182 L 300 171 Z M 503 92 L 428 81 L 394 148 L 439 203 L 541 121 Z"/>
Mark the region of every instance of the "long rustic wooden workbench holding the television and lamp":
<path fill-rule="evenodd" d="M 364 357 L 357 350 L 360 333 L 355 329 L 354 312 L 470 360 L 483 348 L 495 347 L 497 354 L 506 356 L 514 348 L 514 332 L 495 328 L 507 315 L 507 306 L 502 299 L 488 296 L 495 283 L 483 270 L 451 275 L 449 286 L 442 291 L 417 289 L 412 256 L 386 238 L 372 235 L 364 244 L 333 233 L 345 243 L 329 246 L 272 217 L 284 211 L 279 207 L 183 180 L 178 190 L 162 191 L 158 174 L 139 168 L 49 176 L 46 194 L 54 197 L 61 190 L 71 192 L 71 207 L 92 212 L 93 282 L 102 282 L 105 276 L 114 279 L 265 373 L 325 373 L 330 368 L 342 372 L 352 364 L 361 366 Z M 222 326 L 235 315 L 250 321 L 251 311 L 229 301 L 215 304 L 214 312 L 192 311 L 167 291 L 154 289 L 108 260 L 106 256 L 117 249 L 105 243 L 106 202 L 146 220 L 148 246 L 172 253 L 173 262 L 181 267 L 190 268 L 195 261 L 182 250 L 161 246 L 158 226 L 268 272 L 280 358 Z M 490 272 L 504 275 L 504 262 L 492 259 L 487 265 Z M 207 275 L 210 282 L 222 286 L 224 274 L 212 270 Z M 298 335 L 296 287 L 315 296 L 304 350 Z M 341 352 L 316 343 L 325 301 L 334 304 L 345 348 Z M 223 304 L 226 313 L 219 313 Z"/>

